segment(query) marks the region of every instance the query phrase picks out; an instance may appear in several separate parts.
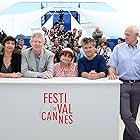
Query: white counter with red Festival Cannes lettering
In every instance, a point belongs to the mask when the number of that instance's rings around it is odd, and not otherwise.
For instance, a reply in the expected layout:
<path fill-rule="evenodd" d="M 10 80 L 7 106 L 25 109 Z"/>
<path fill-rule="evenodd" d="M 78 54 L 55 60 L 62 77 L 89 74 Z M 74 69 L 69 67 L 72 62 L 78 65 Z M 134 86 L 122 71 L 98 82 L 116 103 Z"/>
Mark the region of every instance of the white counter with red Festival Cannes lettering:
<path fill-rule="evenodd" d="M 0 79 L 1 140 L 118 140 L 120 82 Z"/>

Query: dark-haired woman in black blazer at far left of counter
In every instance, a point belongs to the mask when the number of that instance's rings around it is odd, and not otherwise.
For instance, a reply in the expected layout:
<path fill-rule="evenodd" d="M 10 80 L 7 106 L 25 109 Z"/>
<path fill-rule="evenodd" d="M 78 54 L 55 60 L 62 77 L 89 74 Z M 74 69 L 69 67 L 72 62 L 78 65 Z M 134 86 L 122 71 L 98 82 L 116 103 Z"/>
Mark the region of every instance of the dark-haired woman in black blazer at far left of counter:
<path fill-rule="evenodd" d="M 21 55 L 15 54 L 16 39 L 7 36 L 3 39 L 3 52 L 0 54 L 0 78 L 20 78 Z"/>

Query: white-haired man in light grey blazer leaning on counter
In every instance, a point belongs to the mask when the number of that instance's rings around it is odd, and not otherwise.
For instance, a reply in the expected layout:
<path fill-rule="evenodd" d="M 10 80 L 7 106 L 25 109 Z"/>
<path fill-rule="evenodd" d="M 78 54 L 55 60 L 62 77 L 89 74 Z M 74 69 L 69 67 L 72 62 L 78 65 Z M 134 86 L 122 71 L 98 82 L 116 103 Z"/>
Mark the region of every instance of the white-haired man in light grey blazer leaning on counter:
<path fill-rule="evenodd" d="M 34 33 L 30 40 L 31 48 L 22 52 L 21 71 L 24 77 L 53 77 L 54 54 L 44 48 L 44 41 L 41 33 Z"/>

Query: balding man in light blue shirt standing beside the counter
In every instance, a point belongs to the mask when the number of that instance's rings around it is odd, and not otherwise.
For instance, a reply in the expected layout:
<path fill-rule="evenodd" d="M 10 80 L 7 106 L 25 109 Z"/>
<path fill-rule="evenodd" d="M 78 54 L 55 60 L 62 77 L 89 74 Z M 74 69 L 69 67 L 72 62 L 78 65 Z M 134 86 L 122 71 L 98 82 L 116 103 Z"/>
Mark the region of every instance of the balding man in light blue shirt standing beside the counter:
<path fill-rule="evenodd" d="M 125 124 L 123 140 L 140 140 L 140 130 L 136 124 L 140 104 L 140 43 L 136 26 L 125 29 L 125 42 L 115 46 L 109 64 L 109 78 L 119 78 L 120 115 Z"/>

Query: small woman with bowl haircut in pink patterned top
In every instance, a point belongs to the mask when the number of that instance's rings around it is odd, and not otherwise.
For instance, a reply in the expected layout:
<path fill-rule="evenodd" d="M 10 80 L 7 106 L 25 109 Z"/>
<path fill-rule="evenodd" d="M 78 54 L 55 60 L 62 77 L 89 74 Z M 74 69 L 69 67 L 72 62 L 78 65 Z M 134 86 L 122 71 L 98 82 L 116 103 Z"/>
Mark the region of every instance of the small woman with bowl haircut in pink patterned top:
<path fill-rule="evenodd" d="M 73 63 L 74 53 L 70 48 L 60 51 L 60 62 L 54 65 L 54 77 L 77 77 L 77 64 Z"/>

